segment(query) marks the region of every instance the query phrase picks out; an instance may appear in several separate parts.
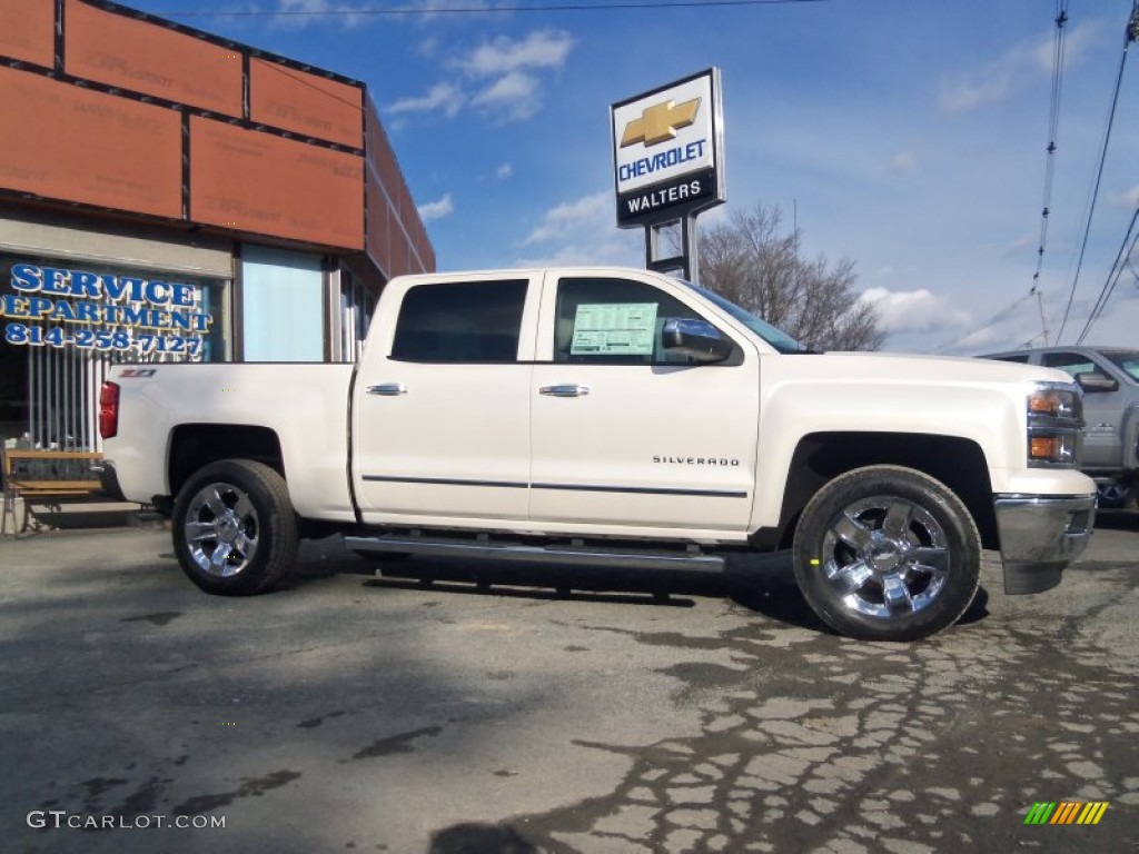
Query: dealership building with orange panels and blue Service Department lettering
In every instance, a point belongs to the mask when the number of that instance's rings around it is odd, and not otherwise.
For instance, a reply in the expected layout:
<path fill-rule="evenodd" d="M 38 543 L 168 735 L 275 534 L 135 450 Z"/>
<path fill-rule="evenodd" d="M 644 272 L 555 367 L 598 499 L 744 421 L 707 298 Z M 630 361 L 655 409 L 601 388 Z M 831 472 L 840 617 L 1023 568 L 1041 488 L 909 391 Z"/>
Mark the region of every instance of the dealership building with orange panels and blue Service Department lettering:
<path fill-rule="evenodd" d="M 353 361 L 435 256 L 363 83 L 101 0 L 0 0 L 0 438 L 107 366 Z"/>

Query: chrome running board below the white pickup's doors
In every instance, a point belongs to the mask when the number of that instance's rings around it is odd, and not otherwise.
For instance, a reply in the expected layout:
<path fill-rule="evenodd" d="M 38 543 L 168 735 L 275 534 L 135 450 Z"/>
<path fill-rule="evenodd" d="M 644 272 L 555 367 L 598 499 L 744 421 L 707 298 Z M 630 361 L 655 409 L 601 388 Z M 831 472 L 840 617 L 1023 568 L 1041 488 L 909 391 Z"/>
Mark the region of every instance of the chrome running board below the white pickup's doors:
<path fill-rule="evenodd" d="M 596 545 L 527 545 L 492 540 L 377 534 L 344 537 L 353 551 L 400 552 L 436 558 L 514 560 L 531 564 L 583 564 L 630 569 L 685 569 L 722 573 L 724 559 L 702 551 L 653 551 L 649 549 L 606 549 Z"/>

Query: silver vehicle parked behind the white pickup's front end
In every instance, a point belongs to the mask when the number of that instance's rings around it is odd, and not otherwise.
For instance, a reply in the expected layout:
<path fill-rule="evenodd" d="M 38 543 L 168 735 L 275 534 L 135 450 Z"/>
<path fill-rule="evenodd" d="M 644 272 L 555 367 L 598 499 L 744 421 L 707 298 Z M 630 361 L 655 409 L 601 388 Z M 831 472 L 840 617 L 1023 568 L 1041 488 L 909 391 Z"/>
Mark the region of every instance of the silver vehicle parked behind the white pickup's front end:
<path fill-rule="evenodd" d="M 1139 350 L 1035 347 L 983 359 L 1058 368 L 1083 389 L 1083 470 L 1096 481 L 1099 506 L 1121 508 L 1139 484 Z"/>

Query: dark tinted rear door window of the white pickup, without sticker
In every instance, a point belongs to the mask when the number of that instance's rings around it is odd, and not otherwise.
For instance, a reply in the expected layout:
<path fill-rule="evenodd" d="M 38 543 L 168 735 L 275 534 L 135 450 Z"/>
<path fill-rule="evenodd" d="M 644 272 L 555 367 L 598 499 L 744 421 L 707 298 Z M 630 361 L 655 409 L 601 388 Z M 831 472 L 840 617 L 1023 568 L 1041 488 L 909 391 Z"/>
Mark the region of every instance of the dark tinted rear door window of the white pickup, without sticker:
<path fill-rule="evenodd" d="M 418 285 L 403 295 L 392 359 L 404 362 L 514 362 L 525 279 Z"/>

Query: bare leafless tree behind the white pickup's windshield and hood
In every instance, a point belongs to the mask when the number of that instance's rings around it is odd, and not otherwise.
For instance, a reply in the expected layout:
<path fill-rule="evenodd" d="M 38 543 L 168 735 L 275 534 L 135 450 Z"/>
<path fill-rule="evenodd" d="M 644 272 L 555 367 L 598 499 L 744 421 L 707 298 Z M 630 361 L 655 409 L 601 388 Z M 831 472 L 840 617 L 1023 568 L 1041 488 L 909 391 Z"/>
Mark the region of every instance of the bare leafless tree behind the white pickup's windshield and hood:
<path fill-rule="evenodd" d="M 854 262 L 800 254 L 800 232 L 781 228 L 778 207 L 735 211 L 699 236 L 700 284 L 812 350 L 878 350 L 885 334 L 859 299 Z"/>

